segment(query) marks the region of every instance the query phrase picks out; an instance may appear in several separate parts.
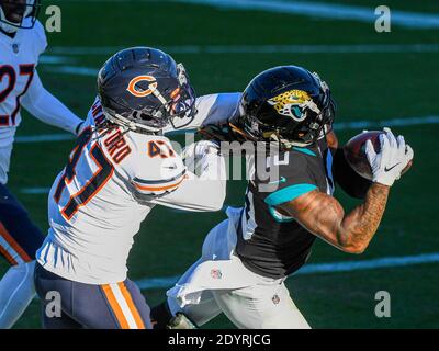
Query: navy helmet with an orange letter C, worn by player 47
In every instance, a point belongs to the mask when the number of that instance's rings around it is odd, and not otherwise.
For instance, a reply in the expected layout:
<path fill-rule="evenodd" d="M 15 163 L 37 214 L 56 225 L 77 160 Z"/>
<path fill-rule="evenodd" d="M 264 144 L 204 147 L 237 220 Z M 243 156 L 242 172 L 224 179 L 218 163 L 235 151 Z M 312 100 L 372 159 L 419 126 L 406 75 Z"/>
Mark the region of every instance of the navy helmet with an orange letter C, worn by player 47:
<path fill-rule="evenodd" d="M 182 64 L 150 47 L 119 52 L 101 68 L 98 94 L 108 121 L 131 131 L 159 134 L 189 124 L 195 93 Z"/>

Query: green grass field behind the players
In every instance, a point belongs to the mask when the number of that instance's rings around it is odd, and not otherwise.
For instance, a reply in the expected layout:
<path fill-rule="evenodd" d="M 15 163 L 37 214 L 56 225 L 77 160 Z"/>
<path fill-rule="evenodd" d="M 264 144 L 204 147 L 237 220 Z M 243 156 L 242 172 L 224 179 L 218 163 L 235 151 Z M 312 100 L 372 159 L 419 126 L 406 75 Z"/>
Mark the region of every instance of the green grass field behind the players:
<path fill-rule="evenodd" d="M 331 0 L 375 8 L 380 1 Z M 53 1 L 63 10 L 63 32 L 48 35 L 50 47 L 88 47 L 89 55 L 69 55 L 69 66 L 98 69 L 109 55 L 99 47 L 136 45 L 172 48 L 181 45 L 365 45 L 439 44 L 439 30 L 392 26 L 376 33 L 373 24 L 262 11 L 236 11 L 168 1 Z M 437 1 L 387 1 L 392 9 L 436 13 Z M 424 8 L 425 3 L 425 8 Z M 42 15 L 44 20 L 44 12 Z M 49 52 L 50 53 L 50 52 Z M 198 94 L 240 91 L 259 71 L 294 64 L 318 71 L 338 102 L 337 122 L 376 121 L 439 115 L 439 52 L 319 54 L 170 54 L 184 63 Z M 45 86 L 78 114 L 85 115 L 95 95 L 95 77 L 54 72 L 60 65 L 40 67 Z M 439 173 L 436 144 L 439 125 L 394 127 L 415 149 L 413 170 L 394 189 L 384 220 L 360 257 L 319 241 L 311 263 L 358 261 L 382 257 L 439 252 L 436 190 Z M 338 131 L 341 141 L 361 129 Z M 25 115 L 19 136 L 61 133 Z M 52 185 L 64 167 L 72 141 L 16 144 L 9 186 L 47 230 L 46 194 L 25 194 L 25 188 Z M 438 172 L 438 173 L 437 173 Z M 227 204 L 241 205 L 245 181 L 228 183 Z M 342 193 L 346 208 L 356 202 Z M 136 236 L 130 276 L 171 276 L 182 273 L 199 256 L 204 235 L 225 218 L 223 213 L 183 214 L 156 207 Z M 175 225 L 178 224 L 178 225 Z M 8 265 L 0 262 L 0 274 Z M 288 280 L 293 298 L 314 328 L 438 328 L 439 263 L 347 273 L 297 275 Z M 374 315 L 375 292 L 392 296 L 392 317 Z M 145 291 L 154 305 L 165 290 Z M 38 304 L 31 305 L 16 328 L 40 328 Z M 233 328 L 224 317 L 206 328 Z"/>

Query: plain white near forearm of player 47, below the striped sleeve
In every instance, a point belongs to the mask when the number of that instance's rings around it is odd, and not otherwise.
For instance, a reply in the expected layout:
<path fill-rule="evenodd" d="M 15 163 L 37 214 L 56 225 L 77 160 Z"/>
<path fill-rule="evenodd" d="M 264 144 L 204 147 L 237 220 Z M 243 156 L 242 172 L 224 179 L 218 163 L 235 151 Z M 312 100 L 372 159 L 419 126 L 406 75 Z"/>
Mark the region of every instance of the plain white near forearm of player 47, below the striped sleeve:
<path fill-rule="evenodd" d="M 187 211 L 219 211 L 226 197 L 226 167 L 224 158 L 207 154 L 201 162 L 201 174 L 188 172 L 178 189 L 154 203 Z"/>

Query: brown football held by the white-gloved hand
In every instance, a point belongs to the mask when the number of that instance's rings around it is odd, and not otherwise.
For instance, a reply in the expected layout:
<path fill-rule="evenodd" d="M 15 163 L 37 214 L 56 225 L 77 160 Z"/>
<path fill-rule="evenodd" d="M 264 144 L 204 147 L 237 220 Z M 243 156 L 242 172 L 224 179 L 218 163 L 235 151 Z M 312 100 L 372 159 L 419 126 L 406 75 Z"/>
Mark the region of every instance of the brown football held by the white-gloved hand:
<path fill-rule="evenodd" d="M 380 151 L 380 135 L 384 134 L 381 131 L 371 131 L 361 133 L 351 138 L 344 146 L 344 152 L 349 166 L 361 177 L 372 180 L 372 168 L 369 165 L 368 157 L 365 156 L 365 141 L 371 140 L 376 152 Z M 408 162 L 407 167 L 403 170 L 402 174 L 408 171 L 412 167 L 413 160 Z"/>

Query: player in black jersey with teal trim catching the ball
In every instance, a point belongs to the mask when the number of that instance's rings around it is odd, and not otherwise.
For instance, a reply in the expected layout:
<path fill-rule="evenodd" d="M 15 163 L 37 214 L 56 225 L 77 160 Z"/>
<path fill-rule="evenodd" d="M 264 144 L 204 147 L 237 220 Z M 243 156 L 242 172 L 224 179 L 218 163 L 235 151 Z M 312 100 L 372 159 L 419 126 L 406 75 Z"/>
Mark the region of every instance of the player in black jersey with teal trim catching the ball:
<path fill-rule="evenodd" d="M 380 152 L 367 144 L 373 181 L 356 179 L 339 160 L 334 115 L 329 88 L 318 75 L 284 66 L 249 83 L 228 128 L 204 129 L 216 139 L 264 143 L 269 154 L 256 152 L 250 162 L 244 208 L 228 208 L 200 260 L 168 291 L 167 303 L 153 309 L 157 327 L 178 328 L 181 319 L 200 326 L 224 313 L 238 328 L 309 328 L 284 280 L 305 264 L 317 237 L 345 252 L 363 252 L 390 188 L 413 158 L 404 137 L 385 128 Z M 266 177 L 270 170 L 274 180 Z M 333 197 L 336 182 L 362 204 L 345 213 Z"/>

